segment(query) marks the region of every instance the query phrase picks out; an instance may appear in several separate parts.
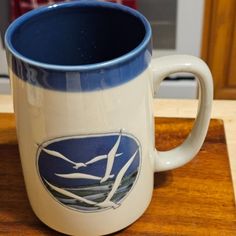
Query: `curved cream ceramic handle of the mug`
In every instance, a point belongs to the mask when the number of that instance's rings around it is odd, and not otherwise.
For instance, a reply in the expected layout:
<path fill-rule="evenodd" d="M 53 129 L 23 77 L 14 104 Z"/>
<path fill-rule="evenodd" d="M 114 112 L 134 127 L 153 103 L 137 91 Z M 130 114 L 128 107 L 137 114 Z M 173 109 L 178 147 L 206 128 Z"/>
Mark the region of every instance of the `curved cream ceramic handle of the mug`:
<path fill-rule="evenodd" d="M 154 153 L 154 171 L 165 171 L 180 167 L 191 161 L 200 150 L 209 126 L 213 100 L 212 75 L 208 66 L 201 59 L 188 55 L 173 55 L 152 60 L 153 85 L 157 89 L 161 81 L 176 72 L 193 73 L 198 78 L 200 87 L 198 114 L 192 131 L 185 141 L 169 151 Z"/>

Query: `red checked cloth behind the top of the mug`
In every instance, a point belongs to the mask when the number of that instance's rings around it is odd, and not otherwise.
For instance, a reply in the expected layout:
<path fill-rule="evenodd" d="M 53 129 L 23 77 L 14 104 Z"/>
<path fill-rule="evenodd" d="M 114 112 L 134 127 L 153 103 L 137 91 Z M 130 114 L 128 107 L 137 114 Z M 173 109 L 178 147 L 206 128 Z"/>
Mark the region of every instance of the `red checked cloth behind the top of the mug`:
<path fill-rule="evenodd" d="M 67 0 L 67 2 L 70 0 Z M 108 0 L 137 9 L 136 0 Z M 37 7 L 62 2 L 62 0 L 11 0 L 11 19 L 14 20 L 22 14 Z"/>

